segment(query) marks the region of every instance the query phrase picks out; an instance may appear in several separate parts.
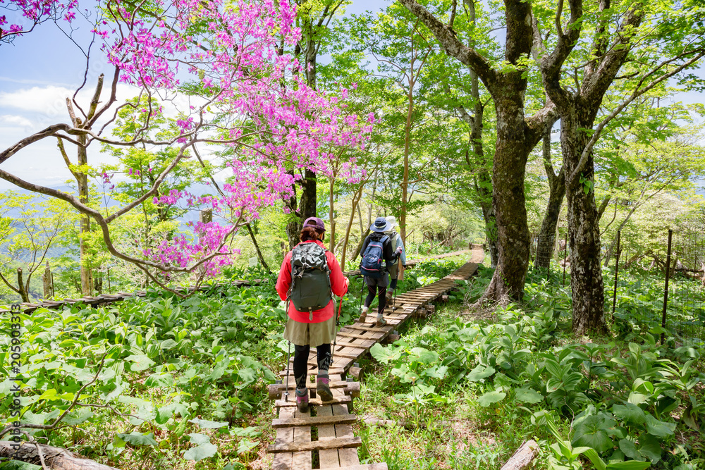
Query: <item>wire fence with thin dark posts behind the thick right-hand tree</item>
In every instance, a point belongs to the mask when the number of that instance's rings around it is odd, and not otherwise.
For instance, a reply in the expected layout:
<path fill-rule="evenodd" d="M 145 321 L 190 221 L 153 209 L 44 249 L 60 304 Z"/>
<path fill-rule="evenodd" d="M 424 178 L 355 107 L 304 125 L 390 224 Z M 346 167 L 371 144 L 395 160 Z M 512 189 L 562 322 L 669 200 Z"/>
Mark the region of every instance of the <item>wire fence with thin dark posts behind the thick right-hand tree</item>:
<path fill-rule="evenodd" d="M 533 237 L 529 247 L 534 275 L 570 285 L 565 233 Z M 662 342 L 672 337 L 678 347 L 705 350 L 704 230 L 685 226 L 647 242 L 618 230 L 603 240 L 602 262 L 605 311 L 616 333 L 632 338 L 648 331 Z"/>

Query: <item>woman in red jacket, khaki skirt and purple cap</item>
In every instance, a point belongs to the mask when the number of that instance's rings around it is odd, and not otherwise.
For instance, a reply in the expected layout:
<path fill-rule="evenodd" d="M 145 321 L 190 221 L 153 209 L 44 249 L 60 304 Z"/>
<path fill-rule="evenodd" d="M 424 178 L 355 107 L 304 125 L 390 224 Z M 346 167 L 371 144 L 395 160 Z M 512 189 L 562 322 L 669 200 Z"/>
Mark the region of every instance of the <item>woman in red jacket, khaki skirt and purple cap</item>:
<path fill-rule="evenodd" d="M 281 264 L 279 278 L 276 281 L 276 292 L 282 300 L 289 299 L 296 295 L 302 297 L 302 293 L 294 292 L 292 289 L 292 256 L 295 255 L 295 266 L 300 263 L 299 259 L 302 251 L 310 252 L 312 255 L 325 254 L 326 264 L 329 271 L 329 283 L 318 283 L 313 287 L 309 284 L 304 292 L 305 297 L 330 298 L 330 301 L 320 309 L 309 308 L 306 311 L 298 311 L 294 302 L 289 302 L 288 320 L 284 328 L 284 339 L 294 344 L 294 379 L 296 382 L 296 404 L 300 412 L 308 411 L 308 390 L 306 387 L 308 357 L 310 348 L 317 349 L 318 354 L 318 376 L 316 389 L 321 400 L 324 402 L 333 400 L 333 394 L 329 385 L 328 370 L 331 366 L 331 342 L 336 334 L 335 302 L 330 295 L 343 296 L 348 292 L 348 278 L 343 276 L 341 266 L 335 256 L 323 245 L 322 240 L 326 235 L 326 225 L 317 217 L 306 219 L 301 230 L 299 239 L 301 242 L 294 249 L 284 256 Z M 305 247 L 302 245 L 313 243 L 318 247 Z M 323 252 L 321 252 L 321 249 Z M 325 267 L 325 266 L 324 266 Z M 291 290 L 291 292 L 290 292 Z M 318 292 L 310 292 L 317 290 Z M 288 366 L 288 364 L 287 364 Z"/>

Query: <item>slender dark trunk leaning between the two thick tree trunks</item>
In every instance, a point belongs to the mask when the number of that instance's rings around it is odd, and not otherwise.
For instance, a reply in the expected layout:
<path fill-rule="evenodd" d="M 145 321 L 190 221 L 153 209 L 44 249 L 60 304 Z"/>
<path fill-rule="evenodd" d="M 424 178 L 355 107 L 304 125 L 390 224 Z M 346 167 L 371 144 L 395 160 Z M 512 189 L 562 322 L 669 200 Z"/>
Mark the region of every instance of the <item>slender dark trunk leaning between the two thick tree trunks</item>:
<path fill-rule="evenodd" d="M 536 266 L 548 269 L 553 249 L 556 247 L 556 226 L 558 225 L 558 216 L 560 216 L 560 206 L 563 206 L 563 198 L 565 197 L 565 170 L 561 167 L 556 175 L 551 163 L 551 130 L 546 130 L 544 134 L 543 151 L 544 168 L 548 177 L 548 203 L 539 230 Z"/>

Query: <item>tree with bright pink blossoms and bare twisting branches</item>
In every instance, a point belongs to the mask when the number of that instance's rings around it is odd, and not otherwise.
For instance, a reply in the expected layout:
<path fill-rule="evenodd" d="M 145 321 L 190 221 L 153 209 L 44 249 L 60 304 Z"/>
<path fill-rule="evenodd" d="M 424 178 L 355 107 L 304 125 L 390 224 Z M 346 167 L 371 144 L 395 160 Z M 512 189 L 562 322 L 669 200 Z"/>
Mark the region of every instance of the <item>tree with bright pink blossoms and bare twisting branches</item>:
<path fill-rule="evenodd" d="M 200 282 L 218 273 L 231 262 L 233 235 L 262 209 L 291 197 L 301 170 L 331 178 L 345 174 L 350 182 L 364 174 L 355 166 L 355 151 L 364 148 L 372 119 L 348 110 L 347 91 L 333 95 L 308 87 L 296 73 L 300 65 L 283 52 L 300 35 L 295 4 L 108 0 L 100 7 L 102 19 L 93 33 L 102 57 L 90 60 L 111 64 L 109 91 L 103 92 L 101 76 L 90 103 L 81 107 L 76 95 L 67 99 L 68 122 L 0 151 L 0 165 L 46 138 L 78 149 L 94 142 L 114 149 L 168 149 L 170 159 L 147 190 L 103 213 L 72 194 L 22 180 L 1 167 L 0 178 L 69 202 L 97 224 L 111 254 L 135 264 L 154 282 L 164 285 L 160 275 L 176 273 L 199 273 Z M 118 100 L 121 82 L 137 99 Z M 132 125 L 116 136 L 111 127 L 118 115 Z M 168 129 L 153 132 L 165 119 L 171 123 Z M 190 159 L 203 163 L 205 153 L 227 156 L 223 167 L 231 178 L 215 196 L 162 190 L 170 173 Z M 145 202 L 212 209 L 214 221 L 192 224 L 188 232 L 141 252 L 124 252 L 111 238 L 111 223 Z"/>

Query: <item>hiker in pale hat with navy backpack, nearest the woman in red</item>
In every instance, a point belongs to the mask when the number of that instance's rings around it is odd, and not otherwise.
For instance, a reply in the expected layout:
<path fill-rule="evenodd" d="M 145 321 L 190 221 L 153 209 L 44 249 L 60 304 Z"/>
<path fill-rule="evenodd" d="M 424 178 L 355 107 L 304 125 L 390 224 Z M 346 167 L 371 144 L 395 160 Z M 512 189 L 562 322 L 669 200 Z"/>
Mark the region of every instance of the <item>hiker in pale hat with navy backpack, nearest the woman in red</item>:
<path fill-rule="evenodd" d="M 360 319 L 357 321 L 365 321 L 369 305 L 372 304 L 374 296 L 379 292 L 376 326 L 384 326 L 387 323 L 383 316 L 384 307 L 386 307 L 386 291 L 389 285 L 387 270 L 393 262 L 397 261 L 402 252 L 401 247 L 396 252 L 392 249 L 391 240 L 387 235 L 384 235 L 388 229 L 389 224 L 384 217 L 374 219 L 374 223 L 369 228 L 372 233 L 367 235 L 360 249 L 362 253 L 360 272 L 364 276 L 364 282 L 367 283 L 367 297 L 364 299 L 364 307 L 362 307 Z"/>

